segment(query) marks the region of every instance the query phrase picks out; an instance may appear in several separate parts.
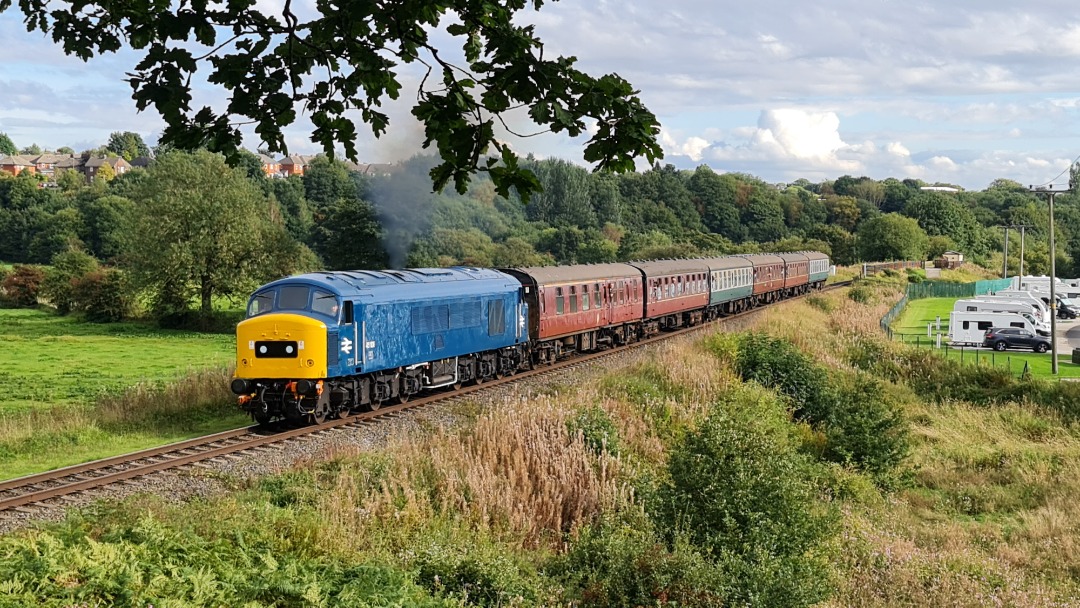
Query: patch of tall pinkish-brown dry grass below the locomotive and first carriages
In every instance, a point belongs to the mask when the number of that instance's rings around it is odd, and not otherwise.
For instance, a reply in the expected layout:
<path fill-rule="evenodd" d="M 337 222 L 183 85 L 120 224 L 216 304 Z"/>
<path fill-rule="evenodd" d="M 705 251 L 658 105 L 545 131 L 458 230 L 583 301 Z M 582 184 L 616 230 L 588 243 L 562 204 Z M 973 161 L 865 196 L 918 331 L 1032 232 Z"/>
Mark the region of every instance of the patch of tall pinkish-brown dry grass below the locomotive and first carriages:
<path fill-rule="evenodd" d="M 471 429 L 399 437 L 376 487 L 362 467 L 347 465 L 321 510 L 355 549 L 372 526 L 435 516 L 502 531 L 527 546 L 557 544 L 598 513 L 633 501 L 620 460 L 593 452 L 568 430 L 567 414 L 583 401 L 603 404 L 588 392 L 508 398 Z"/>

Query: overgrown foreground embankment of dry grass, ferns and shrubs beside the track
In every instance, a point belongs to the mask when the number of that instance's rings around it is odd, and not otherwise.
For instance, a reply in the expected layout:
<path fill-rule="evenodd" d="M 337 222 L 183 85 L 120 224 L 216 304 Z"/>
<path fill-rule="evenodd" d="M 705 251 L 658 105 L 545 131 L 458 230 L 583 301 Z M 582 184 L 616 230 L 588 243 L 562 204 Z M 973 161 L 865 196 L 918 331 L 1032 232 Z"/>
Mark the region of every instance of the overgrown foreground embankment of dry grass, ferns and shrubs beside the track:
<path fill-rule="evenodd" d="M 9 535 L 0 603 L 1075 605 L 1077 388 L 887 342 L 888 289 L 784 305 L 753 335 L 467 404 L 461 429 L 218 499 Z"/>

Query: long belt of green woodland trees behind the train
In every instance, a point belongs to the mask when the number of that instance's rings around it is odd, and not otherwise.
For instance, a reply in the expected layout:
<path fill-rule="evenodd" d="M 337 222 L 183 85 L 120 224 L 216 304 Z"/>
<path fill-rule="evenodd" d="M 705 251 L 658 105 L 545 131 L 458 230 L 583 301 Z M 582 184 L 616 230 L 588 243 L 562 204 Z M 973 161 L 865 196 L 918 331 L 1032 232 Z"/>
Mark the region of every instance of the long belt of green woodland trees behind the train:
<path fill-rule="evenodd" d="M 122 134 L 118 134 L 122 135 Z M 124 140 L 118 137 L 118 143 Z M 525 159 L 542 190 L 498 194 L 485 178 L 431 191 L 433 157 L 389 175 L 316 157 L 305 175 L 267 178 L 255 154 L 232 165 L 161 150 L 146 170 L 65 180 L 0 177 L 0 260 L 9 303 L 48 302 L 100 320 L 149 314 L 166 324 L 237 307 L 258 284 L 323 269 L 611 262 L 815 249 L 841 265 L 927 259 L 948 249 L 1001 265 L 1000 225 L 1030 226 L 1025 271 L 1049 268 L 1045 205 L 999 179 L 977 192 L 918 180 L 841 176 L 777 186 L 707 166 L 591 173 Z M 1080 207 L 1057 199 L 1061 274 L 1080 274 Z M 1018 266 L 1018 243 L 1012 265 Z M 40 265 L 35 267 L 30 265 Z M 109 302 L 106 306 L 106 302 Z"/>

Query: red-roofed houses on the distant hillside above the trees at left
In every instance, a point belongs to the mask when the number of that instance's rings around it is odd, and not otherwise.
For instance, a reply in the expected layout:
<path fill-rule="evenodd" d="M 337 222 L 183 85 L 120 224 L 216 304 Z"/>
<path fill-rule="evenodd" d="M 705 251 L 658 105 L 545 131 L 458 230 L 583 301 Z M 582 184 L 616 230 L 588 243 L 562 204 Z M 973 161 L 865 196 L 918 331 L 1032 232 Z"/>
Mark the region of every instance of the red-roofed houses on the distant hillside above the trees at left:
<path fill-rule="evenodd" d="M 262 163 L 262 172 L 270 178 L 284 178 L 293 175 L 303 176 L 305 168 L 316 158 L 315 156 L 293 154 L 274 160 L 267 154 L 256 154 Z M 94 177 L 104 165 L 109 165 L 113 174 L 122 175 L 133 167 L 146 167 L 152 162 L 149 158 L 132 159 L 131 162 L 120 157 L 94 157 L 83 154 L 0 154 L 0 172 L 11 175 L 29 173 L 41 175 L 46 181 L 54 181 L 57 171 L 71 170 L 81 173 L 86 181 Z M 366 175 L 390 175 L 394 171 L 392 164 L 357 164 L 345 161 L 349 171 Z"/>

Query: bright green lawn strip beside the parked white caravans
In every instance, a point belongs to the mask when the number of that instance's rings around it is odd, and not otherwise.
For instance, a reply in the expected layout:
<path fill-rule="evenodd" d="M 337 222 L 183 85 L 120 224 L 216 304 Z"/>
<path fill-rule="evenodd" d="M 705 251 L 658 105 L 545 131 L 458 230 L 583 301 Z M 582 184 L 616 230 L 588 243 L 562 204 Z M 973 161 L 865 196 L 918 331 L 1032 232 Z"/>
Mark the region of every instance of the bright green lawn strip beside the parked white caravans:
<path fill-rule="evenodd" d="M 934 324 L 933 334 L 936 335 L 936 320 L 941 317 L 942 349 L 934 349 L 942 356 L 947 356 L 956 361 L 962 361 L 969 365 L 990 365 L 1010 369 L 1013 374 L 1022 374 L 1025 364 L 1029 374 L 1040 377 L 1051 377 L 1050 354 L 1038 354 L 1030 351 L 1012 349 L 1007 352 L 994 352 L 990 349 L 976 348 L 945 348 L 946 336 L 948 336 L 948 315 L 953 311 L 953 305 L 957 298 L 922 298 L 912 300 L 907 303 L 904 312 L 892 324 L 894 332 L 903 334 L 905 342 L 915 343 L 923 348 L 932 348 L 934 338 L 927 336 L 927 325 Z M 1080 365 L 1072 363 L 1072 357 L 1067 354 L 1057 355 L 1057 374 L 1062 378 L 1080 377 Z"/>

